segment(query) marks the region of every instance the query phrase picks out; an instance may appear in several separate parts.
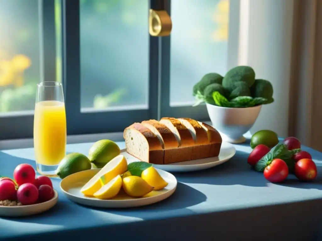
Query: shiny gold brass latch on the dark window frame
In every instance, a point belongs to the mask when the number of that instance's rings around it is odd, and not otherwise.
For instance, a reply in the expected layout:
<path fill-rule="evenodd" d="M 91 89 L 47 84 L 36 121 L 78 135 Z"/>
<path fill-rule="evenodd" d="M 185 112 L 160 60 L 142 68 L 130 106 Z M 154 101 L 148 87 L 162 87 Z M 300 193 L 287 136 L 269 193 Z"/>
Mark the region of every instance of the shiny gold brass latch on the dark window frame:
<path fill-rule="evenodd" d="M 149 33 L 151 36 L 169 36 L 172 29 L 171 17 L 166 11 L 163 0 L 152 1 L 149 11 Z"/>

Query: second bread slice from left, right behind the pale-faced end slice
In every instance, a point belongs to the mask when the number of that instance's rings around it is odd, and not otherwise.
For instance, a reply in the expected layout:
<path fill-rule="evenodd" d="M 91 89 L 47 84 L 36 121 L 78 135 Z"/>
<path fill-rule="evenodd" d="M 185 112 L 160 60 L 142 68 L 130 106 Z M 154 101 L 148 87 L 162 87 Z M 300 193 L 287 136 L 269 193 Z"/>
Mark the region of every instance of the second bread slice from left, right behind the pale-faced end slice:
<path fill-rule="evenodd" d="M 141 123 L 149 128 L 161 141 L 164 149 L 164 164 L 176 162 L 179 143 L 173 132 L 166 125 L 156 120 L 142 121 Z"/>

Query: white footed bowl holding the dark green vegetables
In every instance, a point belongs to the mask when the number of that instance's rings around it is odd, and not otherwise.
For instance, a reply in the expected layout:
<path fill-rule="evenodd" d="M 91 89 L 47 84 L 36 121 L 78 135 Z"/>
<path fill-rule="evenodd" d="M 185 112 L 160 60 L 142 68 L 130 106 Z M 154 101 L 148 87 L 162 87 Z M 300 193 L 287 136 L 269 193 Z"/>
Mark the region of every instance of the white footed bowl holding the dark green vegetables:
<path fill-rule="evenodd" d="M 243 143 L 243 136 L 255 123 L 261 105 L 248 108 L 227 108 L 206 103 L 212 125 L 222 135 L 223 141 Z"/>

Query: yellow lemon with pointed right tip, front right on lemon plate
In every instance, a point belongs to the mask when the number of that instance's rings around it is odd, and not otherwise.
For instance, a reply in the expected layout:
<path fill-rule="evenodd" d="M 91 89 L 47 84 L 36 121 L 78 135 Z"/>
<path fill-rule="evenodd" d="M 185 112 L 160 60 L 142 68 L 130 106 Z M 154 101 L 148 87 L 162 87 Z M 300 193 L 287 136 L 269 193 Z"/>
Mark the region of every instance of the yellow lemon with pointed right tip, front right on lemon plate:
<path fill-rule="evenodd" d="M 135 198 L 142 197 L 153 190 L 153 187 L 139 176 L 128 176 L 123 178 L 122 186 L 129 196 Z"/>

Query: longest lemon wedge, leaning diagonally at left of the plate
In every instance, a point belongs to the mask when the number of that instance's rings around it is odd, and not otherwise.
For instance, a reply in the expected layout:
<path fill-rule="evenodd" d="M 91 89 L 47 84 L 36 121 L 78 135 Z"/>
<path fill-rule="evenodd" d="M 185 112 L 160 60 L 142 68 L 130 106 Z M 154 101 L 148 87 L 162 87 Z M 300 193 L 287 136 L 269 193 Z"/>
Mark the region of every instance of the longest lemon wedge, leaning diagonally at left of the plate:
<path fill-rule="evenodd" d="M 88 181 L 81 189 L 81 193 L 85 196 L 93 196 L 102 187 L 102 181 L 109 183 L 114 177 L 128 170 L 128 163 L 123 155 L 118 155 L 110 160 L 90 181 Z M 104 183 L 104 184 L 105 184 Z"/>

